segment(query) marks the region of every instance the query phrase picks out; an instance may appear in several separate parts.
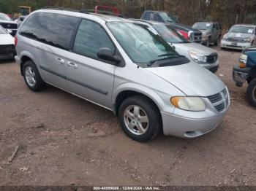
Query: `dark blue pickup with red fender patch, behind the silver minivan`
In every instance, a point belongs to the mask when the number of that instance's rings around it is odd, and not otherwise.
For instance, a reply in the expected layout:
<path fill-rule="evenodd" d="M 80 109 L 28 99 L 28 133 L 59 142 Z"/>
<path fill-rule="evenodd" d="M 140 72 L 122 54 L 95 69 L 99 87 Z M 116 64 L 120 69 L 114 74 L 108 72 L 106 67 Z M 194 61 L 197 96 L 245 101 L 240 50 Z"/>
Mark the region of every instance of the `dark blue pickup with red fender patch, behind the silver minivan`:
<path fill-rule="evenodd" d="M 190 26 L 185 26 L 181 23 L 178 23 L 178 17 L 170 15 L 168 12 L 160 11 L 145 11 L 141 17 L 142 20 L 154 20 L 162 23 L 168 23 L 170 26 L 173 26 L 181 35 L 191 42 L 202 42 L 202 32 L 192 28 Z"/>

